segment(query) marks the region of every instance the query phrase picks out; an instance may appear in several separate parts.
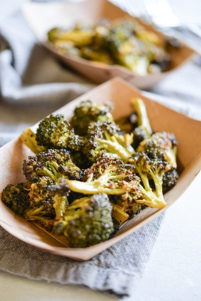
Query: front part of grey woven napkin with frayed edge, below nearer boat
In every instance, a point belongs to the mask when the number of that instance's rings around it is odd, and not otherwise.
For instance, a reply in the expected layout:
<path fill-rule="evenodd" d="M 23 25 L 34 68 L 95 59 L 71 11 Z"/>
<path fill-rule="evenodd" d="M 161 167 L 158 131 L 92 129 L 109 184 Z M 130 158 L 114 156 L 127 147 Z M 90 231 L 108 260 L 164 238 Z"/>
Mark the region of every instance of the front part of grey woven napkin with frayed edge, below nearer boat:
<path fill-rule="evenodd" d="M 84 285 L 112 296 L 129 296 L 149 259 L 163 219 L 150 224 L 86 262 L 46 253 L 0 227 L 0 269 L 30 279 Z"/>

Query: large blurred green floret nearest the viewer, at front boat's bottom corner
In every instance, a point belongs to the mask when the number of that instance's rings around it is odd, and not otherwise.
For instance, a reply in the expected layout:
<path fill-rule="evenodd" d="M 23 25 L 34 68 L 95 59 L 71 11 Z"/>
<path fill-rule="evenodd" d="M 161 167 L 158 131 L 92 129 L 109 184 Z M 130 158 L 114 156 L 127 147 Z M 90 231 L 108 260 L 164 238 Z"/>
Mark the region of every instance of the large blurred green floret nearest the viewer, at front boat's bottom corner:
<path fill-rule="evenodd" d="M 64 234 L 70 247 L 86 248 L 101 243 L 113 232 L 112 206 L 105 193 L 75 200 L 55 223 L 54 232 Z"/>

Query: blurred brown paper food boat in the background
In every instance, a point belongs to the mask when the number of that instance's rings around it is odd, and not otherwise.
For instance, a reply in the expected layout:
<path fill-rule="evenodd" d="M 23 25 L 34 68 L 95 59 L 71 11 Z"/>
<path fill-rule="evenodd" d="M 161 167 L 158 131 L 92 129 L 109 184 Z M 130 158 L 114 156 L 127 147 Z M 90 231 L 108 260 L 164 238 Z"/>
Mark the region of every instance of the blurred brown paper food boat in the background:
<path fill-rule="evenodd" d="M 172 52 L 172 64 L 169 71 L 160 74 L 140 76 L 120 65 L 106 65 L 91 62 L 77 56 L 59 53 L 58 49 L 47 41 L 47 33 L 51 28 L 68 28 L 76 22 L 96 22 L 99 18 L 115 20 L 129 16 L 107 0 L 86 0 L 79 3 L 33 3 L 22 6 L 23 14 L 38 40 L 66 65 L 88 77 L 95 83 L 103 83 L 115 76 L 120 76 L 140 89 L 148 89 L 175 70 L 187 60 L 194 51 L 186 45 Z M 135 18 L 134 18 L 135 19 Z M 139 19 L 138 19 L 139 21 Z M 140 22 L 140 21 L 139 21 Z M 142 23 L 142 22 L 141 22 Z M 148 30 L 157 32 L 152 26 L 144 24 Z M 157 32 L 163 39 L 164 35 Z"/>

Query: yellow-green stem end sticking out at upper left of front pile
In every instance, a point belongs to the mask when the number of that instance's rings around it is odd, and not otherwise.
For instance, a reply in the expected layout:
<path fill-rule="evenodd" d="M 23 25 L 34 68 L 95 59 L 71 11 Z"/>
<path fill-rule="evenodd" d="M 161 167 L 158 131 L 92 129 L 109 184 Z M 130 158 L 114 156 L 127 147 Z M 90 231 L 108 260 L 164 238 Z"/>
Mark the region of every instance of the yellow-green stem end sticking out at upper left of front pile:
<path fill-rule="evenodd" d="M 20 140 L 30 148 L 33 153 L 36 155 L 39 154 L 41 151 L 45 151 L 47 147 L 42 145 L 38 145 L 36 141 L 36 134 L 28 127 L 20 136 Z"/>

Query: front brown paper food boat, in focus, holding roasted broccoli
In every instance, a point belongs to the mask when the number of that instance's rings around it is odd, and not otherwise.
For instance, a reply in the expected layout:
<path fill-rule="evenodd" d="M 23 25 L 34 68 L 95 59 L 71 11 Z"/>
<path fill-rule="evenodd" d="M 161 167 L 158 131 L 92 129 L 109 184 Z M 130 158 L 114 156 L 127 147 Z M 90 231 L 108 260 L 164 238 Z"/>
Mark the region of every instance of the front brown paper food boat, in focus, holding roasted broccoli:
<path fill-rule="evenodd" d="M 201 122 L 144 97 L 139 90 L 120 78 L 114 78 L 94 88 L 66 104 L 57 112 L 65 114 L 65 117 L 70 119 L 75 106 L 80 101 L 87 99 L 97 103 L 112 101 L 115 104 L 113 115 L 115 119 L 118 119 L 132 112 L 130 99 L 135 96 L 141 97 L 145 102 L 153 130 L 172 132 L 179 142 L 178 171 L 180 177 L 176 186 L 164 195 L 168 204 L 167 207 L 161 210 L 145 208 L 135 218 L 125 222 L 113 238 L 85 249 L 68 248 L 65 238 L 54 237 L 32 222 L 25 221 L 14 214 L 1 200 L 0 225 L 12 235 L 33 246 L 77 260 L 87 260 L 147 224 L 173 204 L 184 193 L 201 169 Z M 36 127 L 37 125 L 33 126 L 32 129 L 34 130 Z M 31 151 L 19 139 L 12 140 L 0 148 L 0 191 L 9 183 L 15 184 L 24 181 L 22 162 L 30 154 L 32 154 Z"/>

